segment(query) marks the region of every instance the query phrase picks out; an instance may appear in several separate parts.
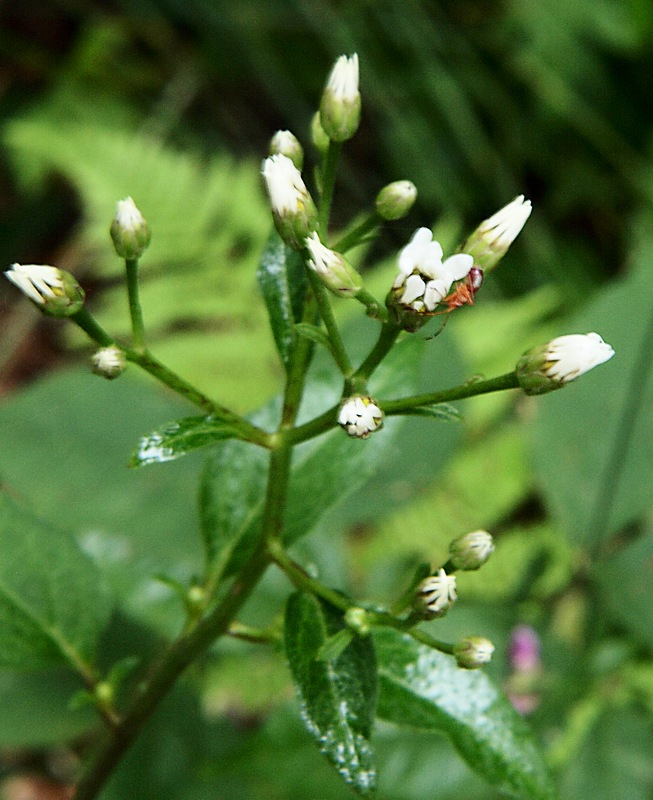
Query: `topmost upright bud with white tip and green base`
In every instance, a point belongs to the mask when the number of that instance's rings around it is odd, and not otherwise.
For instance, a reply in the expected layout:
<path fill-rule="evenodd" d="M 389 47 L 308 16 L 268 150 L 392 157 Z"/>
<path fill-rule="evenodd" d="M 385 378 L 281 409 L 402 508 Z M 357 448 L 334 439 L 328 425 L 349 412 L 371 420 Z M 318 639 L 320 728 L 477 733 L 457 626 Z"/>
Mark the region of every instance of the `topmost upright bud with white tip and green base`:
<path fill-rule="evenodd" d="M 344 142 L 356 133 L 361 116 L 358 91 L 358 55 L 340 56 L 331 70 L 320 102 L 320 122 L 334 142 Z"/>

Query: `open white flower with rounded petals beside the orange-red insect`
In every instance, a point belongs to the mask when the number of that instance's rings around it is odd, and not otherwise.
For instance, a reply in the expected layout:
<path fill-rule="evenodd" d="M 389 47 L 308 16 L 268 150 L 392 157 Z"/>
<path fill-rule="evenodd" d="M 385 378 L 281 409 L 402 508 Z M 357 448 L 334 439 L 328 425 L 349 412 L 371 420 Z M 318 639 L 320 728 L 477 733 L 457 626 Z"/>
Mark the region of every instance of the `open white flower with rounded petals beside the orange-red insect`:
<path fill-rule="evenodd" d="M 458 253 L 442 261 L 442 247 L 429 228 L 419 228 L 399 253 L 399 274 L 393 284 L 404 287 L 399 302 L 414 311 L 433 311 L 449 294 L 454 281 L 474 266 L 472 256 Z"/>

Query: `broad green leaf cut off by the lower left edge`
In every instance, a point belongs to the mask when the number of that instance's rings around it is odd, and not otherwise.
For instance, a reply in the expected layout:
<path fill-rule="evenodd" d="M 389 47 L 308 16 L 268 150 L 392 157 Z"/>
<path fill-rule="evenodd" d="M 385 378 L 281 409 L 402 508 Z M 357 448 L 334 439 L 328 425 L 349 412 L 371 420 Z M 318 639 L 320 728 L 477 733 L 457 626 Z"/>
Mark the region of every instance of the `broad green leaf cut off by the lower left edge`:
<path fill-rule="evenodd" d="M 110 606 L 71 536 L 0 494 L 0 666 L 85 668 Z"/>

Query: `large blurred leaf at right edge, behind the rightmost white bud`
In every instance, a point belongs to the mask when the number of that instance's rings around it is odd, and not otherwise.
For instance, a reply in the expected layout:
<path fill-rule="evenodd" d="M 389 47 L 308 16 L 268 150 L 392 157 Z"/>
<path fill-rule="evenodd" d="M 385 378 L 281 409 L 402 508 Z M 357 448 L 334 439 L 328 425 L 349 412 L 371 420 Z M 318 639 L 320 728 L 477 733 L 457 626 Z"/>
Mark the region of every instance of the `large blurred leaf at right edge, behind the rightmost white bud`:
<path fill-rule="evenodd" d="M 546 504 L 574 543 L 595 547 L 651 508 L 653 247 L 638 271 L 597 297 L 565 330 L 597 331 L 616 355 L 534 403 L 536 473 Z"/>

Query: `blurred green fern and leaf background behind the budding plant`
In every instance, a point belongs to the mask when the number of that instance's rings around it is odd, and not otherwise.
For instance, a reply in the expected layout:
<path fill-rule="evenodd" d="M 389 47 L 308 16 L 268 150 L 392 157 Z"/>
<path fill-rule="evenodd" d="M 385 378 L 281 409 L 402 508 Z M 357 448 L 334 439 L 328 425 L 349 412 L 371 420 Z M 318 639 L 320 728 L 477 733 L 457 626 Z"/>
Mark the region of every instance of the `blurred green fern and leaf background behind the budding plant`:
<path fill-rule="evenodd" d="M 72 270 L 103 324 L 123 333 L 107 231 L 116 200 L 132 195 L 154 232 L 142 264 L 151 345 L 239 411 L 263 403 L 282 374 L 255 280 L 270 228 L 260 159 L 277 128 L 307 140 L 335 56 L 359 53 L 364 109 L 336 221 L 389 180 L 419 190 L 408 220 L 358 256 L 382 260 L 371 287 L 387 285 L 383 257 L 417 225 L 435 221 L 453 247 L 515 194 L 533 199 L 477 306 L 427 343 L 423 383 L 497 374 L 566 332 L 598 330 L 614 361 L 545 398 L 466 401 L 462 426 L 411 420 L 378 483 L 297 552 L 325 581 L 388 602 L 416 560 L 444 559 L 453 536 L 497 534 L 492 561 L 461 577 L 460 606 L 434 635 L 489 636 L 489 672 L 504 681 L 511 630 L 535 626 L 544 671 L 531 720 L 577 800 L 653 789 L 652 44 L 651 0 L 33 0 L 0 10 L 4 262 Z M 39 375 L 88 351 L 14 299 L 0 287 L 0 368 L 18 386 L 0 407 L 2 490 L 72 531 L 120 602 L 109 650 L 142 654 L 181 620 L 153 576 L 201 569 L 201 458 L 124 467 L 140 435 L 190 409 L 140 377 Z M 245 621 L 274 620 L 287 592 L 267 576 Z M 281 658 L 252 650 L 229 642 L 211 654 L 107 798 L 195 800 L 216 786 L 239 800 L 353 796 L 289 711 Z M 67 673 L 0 672 L 0 745 L 82 735 L 92 716 L 64 712 L 79 688 Z M 432 734 L 384 724 L 375 744 L 381 798 L 494 796 Z"/>

